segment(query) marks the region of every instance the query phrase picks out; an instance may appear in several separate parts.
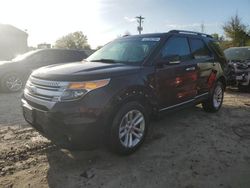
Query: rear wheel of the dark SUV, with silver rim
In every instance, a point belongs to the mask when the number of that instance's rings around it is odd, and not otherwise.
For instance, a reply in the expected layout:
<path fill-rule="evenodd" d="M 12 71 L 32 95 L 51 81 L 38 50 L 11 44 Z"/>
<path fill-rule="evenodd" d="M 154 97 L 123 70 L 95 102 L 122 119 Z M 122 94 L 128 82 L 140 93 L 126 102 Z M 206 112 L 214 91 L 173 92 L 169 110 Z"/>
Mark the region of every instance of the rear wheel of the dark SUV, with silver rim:
<path fill-rule="evenodd" d="M 217 81 L 210 91 L 209 97 L 202 103 L 202 107 L 206 112 L 217 112 L 223 103 L 224 85 Z"/>

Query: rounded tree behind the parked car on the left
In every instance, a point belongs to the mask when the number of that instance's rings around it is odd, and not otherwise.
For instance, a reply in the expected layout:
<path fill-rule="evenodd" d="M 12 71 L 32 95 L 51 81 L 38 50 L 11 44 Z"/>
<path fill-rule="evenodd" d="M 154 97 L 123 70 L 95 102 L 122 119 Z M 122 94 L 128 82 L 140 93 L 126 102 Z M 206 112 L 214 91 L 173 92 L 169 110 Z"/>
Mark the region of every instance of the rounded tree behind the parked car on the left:
<path fill-rule="evenodd" d="M 68 35 L 59 38 L 55 43 L 55 47 L 67 49 L 90 49 L 87 36 L 81 31 L 69 33 Z"/>

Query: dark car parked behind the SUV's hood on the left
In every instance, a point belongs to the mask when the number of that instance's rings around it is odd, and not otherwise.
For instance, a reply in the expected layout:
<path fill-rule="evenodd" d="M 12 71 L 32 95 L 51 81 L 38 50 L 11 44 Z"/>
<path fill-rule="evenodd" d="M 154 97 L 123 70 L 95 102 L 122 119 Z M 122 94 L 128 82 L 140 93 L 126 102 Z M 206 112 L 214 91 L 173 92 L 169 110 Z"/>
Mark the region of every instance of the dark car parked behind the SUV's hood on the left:
<path fill-rule="evenodd" d="M 81 61 L 87 57 L 85 51 L 41 49 L 17 56 L 11 61 L 0 61 L 1 90 L 5 92 L 21 90 L 31 72 L 39 67 Z"/>

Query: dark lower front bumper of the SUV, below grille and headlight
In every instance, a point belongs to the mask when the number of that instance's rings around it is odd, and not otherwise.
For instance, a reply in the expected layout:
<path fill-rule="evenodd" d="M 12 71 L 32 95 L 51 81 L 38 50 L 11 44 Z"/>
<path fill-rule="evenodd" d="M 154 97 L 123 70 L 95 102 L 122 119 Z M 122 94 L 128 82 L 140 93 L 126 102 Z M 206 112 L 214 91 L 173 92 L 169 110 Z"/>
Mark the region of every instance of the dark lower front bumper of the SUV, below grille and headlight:
<path fill-rule="evenodd" d="M 58 104 L 46 111 L 22 99 L 25 120 L 43 136 L 65 147 L 92 148 L 101 140 L 106 120 L 102 109 L 85 109 L 80 104 Z"/>

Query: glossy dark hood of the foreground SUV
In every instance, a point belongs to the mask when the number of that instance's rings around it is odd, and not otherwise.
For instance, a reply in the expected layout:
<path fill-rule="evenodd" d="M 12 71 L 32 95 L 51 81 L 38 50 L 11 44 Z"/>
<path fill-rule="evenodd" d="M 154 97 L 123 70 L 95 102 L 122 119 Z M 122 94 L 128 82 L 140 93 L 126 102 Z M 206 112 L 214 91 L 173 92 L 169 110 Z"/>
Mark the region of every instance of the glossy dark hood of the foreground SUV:
<path fill-rule="evenodd" d="M 33 77 L 45 80 L 83 81 L 111 78 L 136 73 L 140 66 L 109 64 L 102 62 L 76 62 L 42 67 L 32 73 Z"/>

